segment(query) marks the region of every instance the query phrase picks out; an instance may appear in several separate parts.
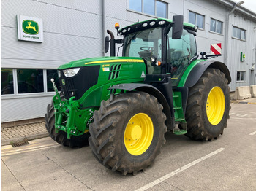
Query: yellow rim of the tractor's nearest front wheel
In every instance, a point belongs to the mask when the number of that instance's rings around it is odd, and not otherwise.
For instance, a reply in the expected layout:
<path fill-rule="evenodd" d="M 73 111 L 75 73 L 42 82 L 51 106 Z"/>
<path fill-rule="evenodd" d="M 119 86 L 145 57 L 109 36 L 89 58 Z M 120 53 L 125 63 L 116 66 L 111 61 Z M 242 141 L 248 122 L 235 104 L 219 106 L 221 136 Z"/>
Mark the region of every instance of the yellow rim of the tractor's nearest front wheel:
<path fill-rule="evenodd" d="M 141 155 L 151 144 L 154 126 L 151 118 L 144 113 L 135 114 L 124 131 L 124 145 L 131 155 Z"/>

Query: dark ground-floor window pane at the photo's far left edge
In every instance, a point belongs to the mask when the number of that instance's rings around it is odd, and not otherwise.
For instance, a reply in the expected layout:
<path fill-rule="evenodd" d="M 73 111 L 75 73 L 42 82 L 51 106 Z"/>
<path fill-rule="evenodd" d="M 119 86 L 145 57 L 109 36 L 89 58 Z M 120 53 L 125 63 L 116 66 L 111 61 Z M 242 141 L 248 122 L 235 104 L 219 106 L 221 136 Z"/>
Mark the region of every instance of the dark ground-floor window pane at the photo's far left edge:
<path fill-rule="evenodd" d="M 1 95 L 13 94 L 12 69 L 1 69 Z"/>

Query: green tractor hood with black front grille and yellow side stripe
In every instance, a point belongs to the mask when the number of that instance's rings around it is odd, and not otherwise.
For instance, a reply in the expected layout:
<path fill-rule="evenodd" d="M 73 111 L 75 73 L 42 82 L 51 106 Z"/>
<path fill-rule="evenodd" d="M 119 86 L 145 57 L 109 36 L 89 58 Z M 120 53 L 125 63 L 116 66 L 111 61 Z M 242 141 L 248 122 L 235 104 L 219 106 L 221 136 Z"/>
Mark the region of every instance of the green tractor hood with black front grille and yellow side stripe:
<path fill-rule="evenodd" d="M 78 68 L 72 76 L 67 76 L 65 72 L 69 69 Z M 99 57 L 85 58 L 79 61 L 72 61 L 59 66 L 59 81 L 61 89 L 64 90 L 64 96 L 67 100 L 75 96 L 78 100 L 85 95 L 86 91 L 96 91 L 90 94 L 94 97 L 101 95 L 104 87 L 107 92 L 110 85 L 119 83 L 143 82 L 146 74 L 146 64 L 142 58 L 131 57 Z M 84 97 L 89 96 L 87 93 Z M 100 98 L 97 99 L 97 106 Z M 93 103 L 92 101 L 89 101 Z M 84 104 L 91 106 L 90 103 Z"/>

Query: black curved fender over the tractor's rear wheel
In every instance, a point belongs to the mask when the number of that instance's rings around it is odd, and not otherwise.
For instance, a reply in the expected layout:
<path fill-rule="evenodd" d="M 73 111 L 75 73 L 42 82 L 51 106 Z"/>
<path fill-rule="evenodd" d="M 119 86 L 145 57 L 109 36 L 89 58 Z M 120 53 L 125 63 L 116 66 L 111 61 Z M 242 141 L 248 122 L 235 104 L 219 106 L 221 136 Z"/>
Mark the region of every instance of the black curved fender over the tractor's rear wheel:
<path fill-rule="evenodd" d="M 203 75 L 203 72 L 206 71 L 206 69 L 208 68 L 219 69 L 220 71 L 222 71 L 225 74 L 225 78 L 227 78 L 228 80 L 227 84 L 230 84 L 230 71 L 227 69 L 225 63 L 219 61 L 202 61 L 200 63 L 197 63 L 197 65 L 195 65 L 195 67 L 190 71 L 184 86 L 194 86 Z"/>

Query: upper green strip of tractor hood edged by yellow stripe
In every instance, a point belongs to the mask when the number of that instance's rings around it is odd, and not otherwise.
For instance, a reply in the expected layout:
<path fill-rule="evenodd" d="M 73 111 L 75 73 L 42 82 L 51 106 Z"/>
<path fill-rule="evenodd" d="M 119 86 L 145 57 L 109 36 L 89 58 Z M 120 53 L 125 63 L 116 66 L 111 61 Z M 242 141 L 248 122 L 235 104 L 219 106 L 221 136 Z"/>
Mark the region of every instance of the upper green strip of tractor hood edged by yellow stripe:
<path fill-rule="evenodd" d="M 102 65 L 105 63 L 138 63 L 144 62 L 142 58 L 138 57 L 96 57 L 96 58 L 84 58 L 78 61 L 71 61 L 69 63 L 59 66 L 61 69 L 78 68 L 88 65 Z"/>

